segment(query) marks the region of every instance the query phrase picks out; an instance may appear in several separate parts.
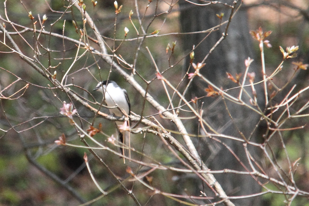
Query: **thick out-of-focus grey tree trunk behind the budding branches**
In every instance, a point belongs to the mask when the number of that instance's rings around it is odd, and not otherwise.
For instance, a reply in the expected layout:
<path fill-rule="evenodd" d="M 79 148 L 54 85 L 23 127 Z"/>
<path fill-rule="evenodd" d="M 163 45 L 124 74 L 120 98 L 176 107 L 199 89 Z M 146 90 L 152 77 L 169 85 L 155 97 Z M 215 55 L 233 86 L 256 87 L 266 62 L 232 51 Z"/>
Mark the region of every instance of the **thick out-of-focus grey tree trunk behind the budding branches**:
<path fill-rule="evenodd" d="M 193 0 L 195 3 L 202 3 L 201 1 Z M 232 5 L 233 1 L 222 1 Z M 180 1 L 180 22 L 182 32 L 196 32 L 203 31 L 212 28 L 219 24 L 220 19 L 216 16 L 222 12 L 224 13 L 224 19 L 222 22 L 227 20 L 231 9 L 223 6 L 222 4 L 214 4 L 209 6 L 195 6 L 185 1 Z M 220 39 L 222 33 L 225 31 L 226 24 L 223 25 L 219 31 L 213 32 L 207 37 L 201 45 L 195 50 L 194 62 L 198 63 L 203 60 L 209 50 L 215 45 Z M 238 11 L 235 17 L 231 21 L 231 25 L 228 30 L 228 36 L 222 43 L 210 54 L 208 59 L 205 61 L 206 65 L 201 69 L 201 74 L 204 75 L 211 82 L 216 84 L 218 87 L 232 88 L 237 86 L 230 79 L 227 78 L 226 72 L 231 73 L 234 77 L 235 74 L 244 73 L 245 65 L 244 60 L 248 57 L 254 58 L 252 37 L 249 34 L 247 14 L 246 11 Z M 206 36 L 205 33 L 189 34 L 183 37 L 184 52 L 189 52 L 193 45 L 197 45 Z M 256 61 L 259 61 L 258 58 Z M 186 59 L 184 70 L 188 69 L 190 59 Z M 252 63 L 249 72 L 256 70 L 254 62 Z M 191 71 L 192 72 L 192 71 Z M 261 79 L 261 71 L 256 70 L 256 81 Z M 242 79 L 242 78 L 241 78 Z M 193 84 L 190 87 L 190 94 L 192 97 L 203 97 L 206 96 L 205 88 L 208 85 L 202 81 L 202 79 L 195 77 Z M 256 88 L 257 98 L 260 99 L 259 105 L 265 105 L 263 98 L 263 90 Z M 247 90 L 249 94 L 252 94 L 250 89 Z M 237 97 L 239 90 L 230 91 L 230 94 Z M 245 98 L 245 95 L 243 95 Z M 243 99 L 248 102 L 247 99 Z M 231 121 L 229 114 L 224 105 L 224 101 L 221 97 L 205 97 L 201 100 L 204 102 L 204 113 L 203 118 L 219 133 L 234 135 L 242 138 L 235 127 L 243 132 L 246 138 L 251 134 L 253 129 L 259 120 L 259 116 L 256 115 L 252 110 L 245 108 L 244 106 L 237 105 L 235 103 L 226 101 L 227 107 L 231 116 L 235 122 Z M 248 102 L 249 103 L 249 102 Z M 249 103 L 250 104 L 250 103 Z M 262 107 L 264 109 L 264 107 Z M 203 132 L 198 131 L 198 122 L 195 122 L 192 132 L 202 134 Z M 194 131 L 195 130 L 195 131 Z M 258 130 L 257 130 L 258 131 Z M 259 132 L 255 132 L 252 136 L 252 141 L 261 141 L 261 135 Z M 260 138 L 260 140 L 257 140 Z M 243 144 L 235 142 L 231 139 L 220 139 L 226 143 L 243 161 L 243 163 L 252 171 L 249 167 L 248 160 L 246 159 Z M 201 155 L 201 158 L 211 170 L 222 170 L 222 169 L 233 169 L 245 171 L 243 166 L 240 165 L 239 161 L 229 152 L 225 146 L 218 142 L 211 140 L 210 138 L 201 138 L 197 140 L 197 149 Z M 260 154 L 257 148 L 250 148 L 251 154 L 259 160 Z M 261 187 L 258 185 L 249 175 L 237 175 L 237 174 L 217 174 L 215 175 L 218 182 L 221 184 L 227 195 L 238 196 L 238 195 L 250 195 L 260 192 Z M 260 205 L 260 198 L 247 198 L 232 200 L 235 205 Z"/>

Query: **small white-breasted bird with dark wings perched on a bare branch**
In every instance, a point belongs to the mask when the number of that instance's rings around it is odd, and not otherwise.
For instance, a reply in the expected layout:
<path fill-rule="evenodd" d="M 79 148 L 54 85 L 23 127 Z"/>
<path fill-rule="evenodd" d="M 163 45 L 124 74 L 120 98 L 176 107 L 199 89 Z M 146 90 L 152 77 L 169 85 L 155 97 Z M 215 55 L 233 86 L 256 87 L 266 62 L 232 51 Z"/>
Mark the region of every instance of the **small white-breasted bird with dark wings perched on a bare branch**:
<path fill-rule="evenodd" d="M 128 93 L 125 89 L 118 86 L 115 81 L 105 80 L 99 82 L 93 91 L 99 91 L 103 94 L 103 99 L 108 107 L 115 107 L 109 109 L 109 112 L 117 117 L 129 116 L 131 114 L 131 105 Z M 123 122 L 116 121 L 117 130 L 118 126 L 122 125 Z M 119 131 L 119 139 L 124 144 L 124 134 Z M 121 149 L 122 154 L 124 149 Z"/>

